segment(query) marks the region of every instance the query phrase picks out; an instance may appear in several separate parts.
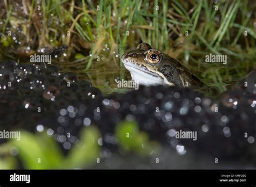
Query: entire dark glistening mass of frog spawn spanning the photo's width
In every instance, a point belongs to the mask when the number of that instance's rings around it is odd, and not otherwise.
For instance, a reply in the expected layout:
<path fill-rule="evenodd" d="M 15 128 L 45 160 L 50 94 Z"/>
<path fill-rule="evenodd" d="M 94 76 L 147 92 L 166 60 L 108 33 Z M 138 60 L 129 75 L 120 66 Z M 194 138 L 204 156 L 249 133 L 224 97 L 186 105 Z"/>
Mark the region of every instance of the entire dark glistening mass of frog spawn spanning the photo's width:
<path fill-rule="evenodd" d="M 60 75 L 55 66 L 48 69 L 40 64 L 8 61 L 0 67 L 0 84 L 5 85 L 1 87 L 1 127 L 45 130 L 60 143 L 64 153 L 78 142 L 80 128 L 93 124 L 102 133 L 98 140 L 102 157 L 118 154 L 116 125 L 135 120 L 151 140 L 178 155 L 190 150 L 226 159 L 252 155 L 254 87 L 228 91 L 220 103 L 191 89 L 162 86 L 103 97 L 90 82 L 79 81 L 73 73 Z M 252 75 L 250 85 L 255 84 Z M 6 87 L 6 82 L 12 86 Z M 24 120 L 24 116 L 28 118 Z M 197 140 L 177 139 L 175 134 L 180 130 L 197 132 Z"/>

